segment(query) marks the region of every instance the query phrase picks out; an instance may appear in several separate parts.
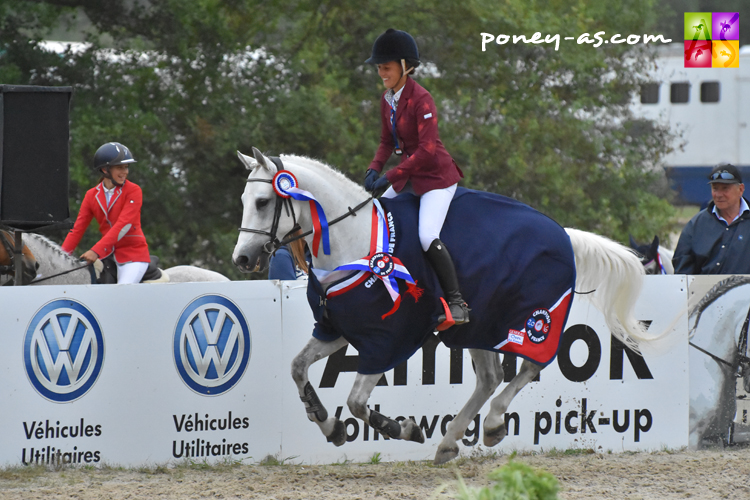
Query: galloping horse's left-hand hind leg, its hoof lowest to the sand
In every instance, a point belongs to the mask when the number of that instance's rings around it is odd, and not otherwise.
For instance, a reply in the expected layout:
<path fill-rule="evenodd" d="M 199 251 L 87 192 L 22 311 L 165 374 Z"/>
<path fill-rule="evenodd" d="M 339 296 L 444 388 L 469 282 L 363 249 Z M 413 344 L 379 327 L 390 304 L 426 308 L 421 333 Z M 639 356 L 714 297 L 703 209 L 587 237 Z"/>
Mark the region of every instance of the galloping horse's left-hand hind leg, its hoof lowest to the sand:
<path fill-rule="evenodd" d="M 471 421 L 503 381 L 503 365 L 496 352 L 469 349 L 469 353 L 476 368 L 477 384 L 464 407 L 448 424 L 445 436 L 435 453 L 436 465 L 444 464 L 458 456 L 458 440 L 463 438 Z"/>

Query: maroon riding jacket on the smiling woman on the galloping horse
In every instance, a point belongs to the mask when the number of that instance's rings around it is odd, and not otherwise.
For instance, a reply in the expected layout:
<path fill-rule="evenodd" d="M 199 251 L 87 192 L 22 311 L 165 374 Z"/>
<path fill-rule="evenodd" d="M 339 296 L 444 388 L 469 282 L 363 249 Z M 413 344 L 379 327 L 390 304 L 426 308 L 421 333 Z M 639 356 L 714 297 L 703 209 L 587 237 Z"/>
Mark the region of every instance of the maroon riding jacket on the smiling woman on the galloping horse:
<path fill-rule="evenodd" d="M 380 99 L 380 115 L 383 122 L 380 147 L 368 167 L 378 172 L 383 170 L 395 148 L 391 105 L 385 100 L 385 93 Z M 404 188 L 407 181 L 411 181 L 414 192 L 421 196 L 427 191 L 446 188 L 461 180 L 463 172 L 443 146 L 438 134 L 435 101 L 424 87 L 408 77 L 396 107 L 396 134 L 404 154 L 401 163 L 386 172 L 385 176 L 397 192 Z"/>

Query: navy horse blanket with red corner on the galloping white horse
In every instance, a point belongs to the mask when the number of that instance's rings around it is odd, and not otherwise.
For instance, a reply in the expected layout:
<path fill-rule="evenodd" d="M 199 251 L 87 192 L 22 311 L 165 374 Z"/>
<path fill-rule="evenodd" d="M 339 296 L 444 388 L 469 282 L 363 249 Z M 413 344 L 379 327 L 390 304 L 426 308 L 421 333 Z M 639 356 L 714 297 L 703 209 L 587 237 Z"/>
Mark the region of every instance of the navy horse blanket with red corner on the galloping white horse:
<path fill-rule="evenodd" d="M 308 283 L 308 301 L 316 320 L 313 336 L 324 341 L 343 336 L 357 349 L 357 371 L 362 374 L 383 373 L 408 359 L 432 334 L 443 313 L 442 290 L 419 243 L 419 198 L 403 194 L 380 202 L 386 216 L 390 213 L 394 220 L 393 253 L 422 289 L 421 297 L 407 293 L 407 284 L 399 279 L 400 307 L 382 318 L 393 301 L 378 280 L 328 297 L 325 304 L 314 273 Z M 472 309 L 469 323 L 440 332 L 443 343 L 452 348 L 512 352 L 543 365 L 550 363 L 557 354 L 575 284 L 575 259 L 565 230 L 516 200 L 461 188 L 451 203 L 441 239 L 453 257 L 461 292 Z M 561 302 L 563 297 L 567 299 Z M 544 311 L 560 304 L 550 321 Z M 509 334 L 514 342 L 507 341 Z"/>

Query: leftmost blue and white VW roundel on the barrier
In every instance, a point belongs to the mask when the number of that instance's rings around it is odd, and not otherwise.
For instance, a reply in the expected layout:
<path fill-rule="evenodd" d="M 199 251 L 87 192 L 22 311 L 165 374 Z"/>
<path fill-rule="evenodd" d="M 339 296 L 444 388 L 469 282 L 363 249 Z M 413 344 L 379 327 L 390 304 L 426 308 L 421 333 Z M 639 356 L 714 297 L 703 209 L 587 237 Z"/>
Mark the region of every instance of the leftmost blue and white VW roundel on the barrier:
<path fill-rule="evenodd" d="M 104 337 L 83 304 L 54 300 L 31 319 L 23 340 L 26 375 L 34 389 L 55 403 L 69 403 L 96 383 L 104 362 Z"/>

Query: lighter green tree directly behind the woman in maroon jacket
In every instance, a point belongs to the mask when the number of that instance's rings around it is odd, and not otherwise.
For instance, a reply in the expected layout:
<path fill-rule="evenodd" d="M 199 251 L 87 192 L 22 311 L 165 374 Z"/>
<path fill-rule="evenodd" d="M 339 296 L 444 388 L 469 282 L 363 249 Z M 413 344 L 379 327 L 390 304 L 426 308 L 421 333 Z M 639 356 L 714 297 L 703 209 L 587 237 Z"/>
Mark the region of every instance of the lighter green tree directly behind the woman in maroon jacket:
<path fill-rule="evenodd" d="M 422 60 L 431 63 L 417 78 L 435 97 L 441 138 L 467 186 L 518 198 L 563 225 L 620 241 L 628 233 L 650 239 L 669 226 L 674 212 L 659 168 L 667 131 L 629 110 L 652 64 L 649 53 L 634 50 L 642 45 L 561 41 L 557 49 L 511 41 L 482 50 L 481 43 L 482 33 L 642 35 L 652 26 L 650 0 L 386 0 L 371 7 L 300 1 L 294 20 L 277 50 L 349 117 L 349 133 L 340 136 L 366 132 L 325 157 L 355 180 L 380 130 L 382 89 L 362 61 L 377 35 L 396 27 L 416 37 Z"/>

